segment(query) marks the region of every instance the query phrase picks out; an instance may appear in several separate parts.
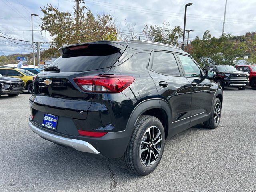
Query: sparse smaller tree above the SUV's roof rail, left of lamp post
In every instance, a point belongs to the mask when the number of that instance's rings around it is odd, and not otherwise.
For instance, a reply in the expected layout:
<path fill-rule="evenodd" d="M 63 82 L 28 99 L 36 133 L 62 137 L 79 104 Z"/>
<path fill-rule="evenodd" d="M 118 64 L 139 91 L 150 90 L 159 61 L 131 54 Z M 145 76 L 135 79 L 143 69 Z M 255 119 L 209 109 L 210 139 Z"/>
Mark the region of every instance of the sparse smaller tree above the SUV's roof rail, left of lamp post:
<path fill-rule="evenodd" d="M 182 28 L 180 26 L 170 28 L 169 22 L 163 22 L 162 26 L 145 25 L 142 32 L 146 40 L 174 46 L 179 46 L 178 38 L 181 38 L 183 35 Z"/>

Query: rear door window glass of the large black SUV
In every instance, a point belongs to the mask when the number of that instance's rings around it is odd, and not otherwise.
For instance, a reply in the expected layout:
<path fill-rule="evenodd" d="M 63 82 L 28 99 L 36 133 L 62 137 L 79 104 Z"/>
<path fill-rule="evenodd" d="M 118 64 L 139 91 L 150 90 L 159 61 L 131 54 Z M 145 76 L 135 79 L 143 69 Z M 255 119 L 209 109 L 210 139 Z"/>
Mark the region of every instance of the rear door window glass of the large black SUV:
<path fill-rule="evenodd" d="M 152 70 L 165 75 L 180 75 L 174 54 L 167 52 L 154 52 Z"/>

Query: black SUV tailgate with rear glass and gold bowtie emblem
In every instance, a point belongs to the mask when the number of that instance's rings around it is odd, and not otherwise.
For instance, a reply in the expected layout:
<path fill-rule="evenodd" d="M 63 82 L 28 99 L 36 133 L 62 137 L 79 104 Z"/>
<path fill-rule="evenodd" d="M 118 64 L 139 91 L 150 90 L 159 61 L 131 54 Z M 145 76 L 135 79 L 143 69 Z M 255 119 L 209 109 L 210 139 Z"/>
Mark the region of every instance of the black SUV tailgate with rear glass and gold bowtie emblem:
<path fill-rule="evenodd" d="M 107 73 L 123 51 L 106 42 L 61 48 L 62 56 L 50 65 L 54 69 L 39 73 L 34 81 L 34 94 L 30 98 L 33 122 L 42 126 L 45 114 L 56 115 L 57 132 L 76 135 L 72 119 L 87 118 L 95 93 L 81 90 L 73 79 Z"/>

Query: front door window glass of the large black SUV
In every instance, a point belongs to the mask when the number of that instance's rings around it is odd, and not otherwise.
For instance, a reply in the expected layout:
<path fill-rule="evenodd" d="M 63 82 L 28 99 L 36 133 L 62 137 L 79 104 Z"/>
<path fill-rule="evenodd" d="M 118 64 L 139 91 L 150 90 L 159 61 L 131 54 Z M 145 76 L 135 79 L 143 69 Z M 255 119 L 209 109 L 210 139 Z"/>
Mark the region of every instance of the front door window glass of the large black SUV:
<path fill-rule="evenodd" d="M 179 57 L 185 71 L 185 76 L 202 77 L 200 68 L 189 56 L 179 54 Z"/>

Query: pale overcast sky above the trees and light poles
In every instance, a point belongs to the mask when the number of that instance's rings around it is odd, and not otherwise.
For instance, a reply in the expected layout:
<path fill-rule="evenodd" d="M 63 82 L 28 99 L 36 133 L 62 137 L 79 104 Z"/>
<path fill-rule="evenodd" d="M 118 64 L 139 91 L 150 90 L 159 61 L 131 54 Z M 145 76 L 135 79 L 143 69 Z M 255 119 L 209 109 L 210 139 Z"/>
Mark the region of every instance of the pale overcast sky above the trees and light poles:
<path fill-rule="evenodd" d="M 190 32 L 190 40 L 196 36 L 201 38 L 205 30 L 210 30 L 213 36 L 220 36 L 225 0 L 85 0 L 85 5 L 93 14 L 112 14 L 118 28 L 125 33 L 125 20 L 136 24 L 136 32 L 142 32 L 144 24 L 160 25 L 163 21 L 183 28 L 184 7 L 189 2 L 193 4 L 187 10 L 186 29 L 195 30 Z M 74 13 L 71 0 L 0 0 L 0 33 L 9 38 L 32 41 L 30 14 L 43 16 L 40 7 L 47 3 L 59 7 L 60 11 Z M 242 35 L 256 31 L 255 10 L 256 0 L 228 0 L 224 32 Z M 39 24 L 40 19 L 33 17 L 34 41 L 49 42 L 49 34 L 41 34 Z M 30 45 L 20 43 L 22 45 L 0 38 L 0 55 L 32 52 Z M 47 46 L 43 44 L 42 48 Z"/>

